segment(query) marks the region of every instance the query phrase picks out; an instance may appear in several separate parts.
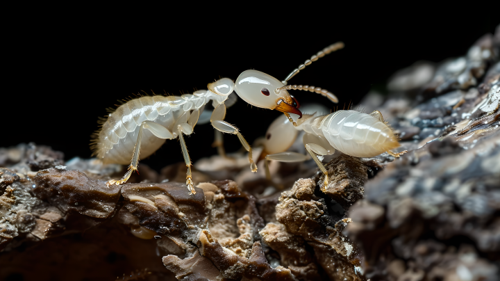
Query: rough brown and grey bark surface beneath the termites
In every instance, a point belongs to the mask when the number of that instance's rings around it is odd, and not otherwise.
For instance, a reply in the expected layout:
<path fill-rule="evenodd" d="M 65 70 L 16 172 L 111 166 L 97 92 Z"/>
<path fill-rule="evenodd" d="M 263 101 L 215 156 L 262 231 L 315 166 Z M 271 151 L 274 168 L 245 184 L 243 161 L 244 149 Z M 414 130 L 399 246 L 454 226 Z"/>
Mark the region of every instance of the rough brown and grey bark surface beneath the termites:
<path fill-rule="evenodd" d="M 107 187 L 121 166 L 0 148 L 0 280 L 499 280 L 499 54 L 500 26 L 369 93 L 408 153 L 337 152 L 326 186 L 236 153 L 195 163 L 194 196 L 183 163 Z"/>

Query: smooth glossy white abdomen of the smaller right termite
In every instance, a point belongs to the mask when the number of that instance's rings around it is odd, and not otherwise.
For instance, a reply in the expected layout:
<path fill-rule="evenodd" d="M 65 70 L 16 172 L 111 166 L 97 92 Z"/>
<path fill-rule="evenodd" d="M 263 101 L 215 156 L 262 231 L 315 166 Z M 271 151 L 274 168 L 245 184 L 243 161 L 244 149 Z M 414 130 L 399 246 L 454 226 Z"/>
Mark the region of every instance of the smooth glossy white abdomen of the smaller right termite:
<path fill-rule="evenodd" d="M 399 147 L 392 129 L 372 115 L 358 111 L 336 111 L 321 125 L 328 142 L 340 152 L 373 157 Z"/>

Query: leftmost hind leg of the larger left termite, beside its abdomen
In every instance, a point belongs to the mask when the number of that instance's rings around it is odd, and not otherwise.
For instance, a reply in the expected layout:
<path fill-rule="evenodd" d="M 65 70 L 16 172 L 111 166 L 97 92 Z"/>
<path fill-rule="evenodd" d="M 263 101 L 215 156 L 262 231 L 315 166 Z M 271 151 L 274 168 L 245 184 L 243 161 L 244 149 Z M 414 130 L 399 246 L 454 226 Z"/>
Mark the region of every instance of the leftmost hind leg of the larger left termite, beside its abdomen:
<path fill-rule="evenodd" d="M 138 140 L 135 143 L 134 151 L 132 154 L 132 161 L 131 161 L 130 166 L 128 166 L 127 172 L 125 173 L 124 177 L 122 177 L 122 179 L 119 179 L 119 180 L 110 179 L 106 183 L 106 186 L 111 186 L 113 184 L 115 184 L 115 185 L 124 184 L 131 177 L 132 173 L 135 170 L 138 170 L 140 144 L 141 144 L 141 139 L 142 139 L 142 130 L 144 130 L 144 129 L 149 129 L 149 131 L 151 131 L 151 133 L 158 138 L 165 138 L 165 139 L 174 138 L 174 135 L 167 128 L 163 127 L 162 125 L 158 125 L 155 122 L 151 122 L 151 121 L 142 122 L 142 124 L 139 128 Z"/>

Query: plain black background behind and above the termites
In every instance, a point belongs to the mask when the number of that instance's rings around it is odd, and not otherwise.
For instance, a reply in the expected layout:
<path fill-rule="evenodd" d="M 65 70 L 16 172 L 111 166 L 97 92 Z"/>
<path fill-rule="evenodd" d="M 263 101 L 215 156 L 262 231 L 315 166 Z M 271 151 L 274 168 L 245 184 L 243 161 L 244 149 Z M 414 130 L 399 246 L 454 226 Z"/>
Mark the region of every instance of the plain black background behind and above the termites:
<path fill-rule="evenodd" d="M 195 6 L 195 4 L 193 3 Z M 154 8 L 153 8 L 154 10 Z M 430 10 L 430 8 L 429 8 Z M 3 35 L 3 92 L 0 147 L 35 142 L 74 156 L 90 157 L 90 134 L 106 108 L 145 90 L 156 94 L 192 92 L 220 77 L 236 79 L 256 69 L 277 79 L 324 47 L 342 40 L 346 47 L 306 68 L 292 83 L 331 90 L 354 103 L 415 61 L 440 62 L 462 56 L 500 22 L 494 8 L 372 13 L 340 8 L 315 12 L 181 13 L 161 16 L 61 13 L 17 19 Z M 177 10 L 176 10 L 177 11 Z M 322 12 L 322 13 L 319 13 Z M 19 25 L 19 22 L 23 22 Z M 11 28 L 12 27 L 12 28 Z M 300 102 L 319 95 L 296 92 Z M 281 113 L 251 108 L 239 99 L 226 120 L 251 143 Z M 238 150 L 225 135 L 226 150 Z M 186 138 L 194 161 L 216 153 L 213 129 L 197 126 Z M 177 140 L 169 140 L 142 163 L 159 170 L 182 161 Z"/>

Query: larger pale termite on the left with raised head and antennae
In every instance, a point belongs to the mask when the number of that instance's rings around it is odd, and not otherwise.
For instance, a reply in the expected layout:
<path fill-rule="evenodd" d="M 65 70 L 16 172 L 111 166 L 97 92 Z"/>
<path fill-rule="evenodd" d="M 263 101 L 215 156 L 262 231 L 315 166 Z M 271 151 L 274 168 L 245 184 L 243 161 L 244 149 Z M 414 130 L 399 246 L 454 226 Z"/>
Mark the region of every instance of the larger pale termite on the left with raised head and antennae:
<path fill-rule="evenodd" d="M 285 116 L 297 126 L 289 113 L 302 116 L 297 109 L 297 102 L 290 96 L 288 90 L 308 90 L 327 97 L 332 102 L 338 102 L 333 93 L 315 86 L 286 86 L 288 80 L 294 77 L 306 65 L 310 65 L 318 58 L 342 49 L 342 42 L 335 43 L 319 51 L 302 65 L 294 70 L 287 79 L 279 81 L 274 77 L 257 70 L 246 70 L 233 82 L 231 79 L 223 78 L 208 84 L 208 90 L 199 90 L 192 95 L 176 96 L 153 96 L 140 97 L 119 106 L 115 112 L 108 115 L 103 122 L 102 128 L 94 134 L 92 149 L 104 163 L 130 163 L 128 171 L 122 179 L 111 179 L 108 185 L 124 184 L 134 170 L 138 169 L 139 156 L 149 156 L 165 143 L 166 139 L 179 138 L 185 164 L 188 167 L 186 185 L 191 194 L 194 194 L 191 161 L 188 148 L 185 145 L 183 134 L 190 135 L 197 125 L 200 112 L 204 106 L 213 101 L 214 110 L 210 115 L 210 123 L 222 133 L 235 134 L 238 136 L 245 150 L 249 152 L 250 168 L 256 172 L 257 166 L 252 160 L 252 150 L 240 134 L 238 129 L 224 121 L 226 106 L 224 102 L 233 93 L 238 94 L 249 104 L 265 109 L 276 109 L 285 113 Z M 303 125 L 306 125 L 304 122 Z M 299 125 L 303 127 L 302 125 Z M 308 126 L 308 125 L 306 125 Z M 305 128 L 305 127 L 304 127 Z M 306 129 L 304 129 L 306 131 Z M 322 154 L 319 148 L 323 143 L 308 143 L 306 149 L 310 153 Z M 275 154 L 276 155 L 276 154 Z M 132 157 L 132 160 L 128 160 Z M 278 160 L 278 159 L 275 159 Z M 283 159 L 287 161 L 287 159 Z M 320 162 L 319 165 L 321 165 Z M 321 166 L 320 166 L 321 168 Z"/>

